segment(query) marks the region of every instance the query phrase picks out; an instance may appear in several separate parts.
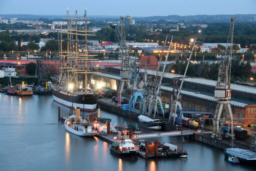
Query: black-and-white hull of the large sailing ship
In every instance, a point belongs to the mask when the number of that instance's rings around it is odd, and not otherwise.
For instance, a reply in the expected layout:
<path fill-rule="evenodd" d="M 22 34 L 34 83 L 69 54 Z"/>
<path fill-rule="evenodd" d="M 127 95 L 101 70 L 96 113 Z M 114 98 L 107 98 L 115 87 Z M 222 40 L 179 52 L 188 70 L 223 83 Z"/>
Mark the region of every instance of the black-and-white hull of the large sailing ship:
<path fill-rule="evenodd" d="M 81 110 L 93 111 L 97 106 L 97 95 L 96 94 L 84 94 L 83 95 L 67 95 L 59 91 L 52 90 L 53 100 L 67 107 L 80 107 Z"/>

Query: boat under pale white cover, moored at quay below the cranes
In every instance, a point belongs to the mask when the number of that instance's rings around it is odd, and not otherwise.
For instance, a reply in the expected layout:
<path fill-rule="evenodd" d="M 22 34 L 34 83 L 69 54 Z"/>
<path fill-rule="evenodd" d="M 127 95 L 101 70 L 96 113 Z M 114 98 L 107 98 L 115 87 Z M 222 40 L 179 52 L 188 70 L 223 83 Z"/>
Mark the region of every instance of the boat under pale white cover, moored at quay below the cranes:
<path fill-rule="evenodd" d="M 142 114 L 138 116 L 138 124 L 151 130 L 160 130 L 162 127 L 162 121 L 160 119 L 152 119 Z"/>

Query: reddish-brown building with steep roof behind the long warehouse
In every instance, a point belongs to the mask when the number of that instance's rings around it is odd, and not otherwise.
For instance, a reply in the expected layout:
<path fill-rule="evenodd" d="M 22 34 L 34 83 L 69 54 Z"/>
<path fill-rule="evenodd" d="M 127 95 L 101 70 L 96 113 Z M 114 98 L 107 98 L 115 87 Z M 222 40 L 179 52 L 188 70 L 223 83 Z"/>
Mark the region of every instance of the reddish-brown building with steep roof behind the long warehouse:
<path fill-rule="evenodd" d="M 153 55 L 140 56 L 137 62 L 138 62 L 138 66 L 141 68 L 144 68 L 146 64 L 147 69 L 156 70 L 158 66 L 158 59 Z"/>

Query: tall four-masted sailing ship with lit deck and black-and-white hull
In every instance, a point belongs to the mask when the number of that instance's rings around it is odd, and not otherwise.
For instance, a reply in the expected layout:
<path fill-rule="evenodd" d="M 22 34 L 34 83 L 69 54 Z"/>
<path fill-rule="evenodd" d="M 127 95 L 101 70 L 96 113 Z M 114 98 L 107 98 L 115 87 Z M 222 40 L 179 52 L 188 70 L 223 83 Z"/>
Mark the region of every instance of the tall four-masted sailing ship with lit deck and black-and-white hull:
<path fill-rule="evenodd" d="M 91 19 L 86 17 L 86 7 L 84 18 L 77 18 L 77 9 L 75 9 L 75 18 L 69 18 L 67 8 L 65 19 L 67 19 L 67 28 L 58 31 L 60 67 L 57 82 L 52 86 L 52 97 L 54 101 L 65 106 L 93 111 L 97 105 L 98 90 L 87 80 L 87 75 L 99 72 L 91 71 L 87 65 L 88 60 L 97 60 L 93 59 L 93 56 L 97 55 L 89 55 L 87 51 L 87 36 L 95 35 L 94 31 L 87 30 L 87 20 Z M 75 25 L 71 24 L 71 20 L 75 20 Z M 84 30 L 77 29 L 77 20 L 85 21 Z M 83 51 L 78 50 L 78 36 L 85 37 Z M 64 41 L 66 43 L 63 43 Z"/>

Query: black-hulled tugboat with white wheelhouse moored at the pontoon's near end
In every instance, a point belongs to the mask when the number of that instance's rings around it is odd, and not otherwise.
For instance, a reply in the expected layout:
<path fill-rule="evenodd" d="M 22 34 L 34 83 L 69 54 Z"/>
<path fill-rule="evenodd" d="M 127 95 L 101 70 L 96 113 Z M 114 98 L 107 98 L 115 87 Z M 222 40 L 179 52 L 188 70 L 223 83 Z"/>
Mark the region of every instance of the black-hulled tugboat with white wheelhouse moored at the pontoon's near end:
<path fill-rule="evenodd" d="M 123 139 L 121 142 L 114 142 L 110 147 L 110 153 L 123 156 L 123 157 L 131 157 L 137 158 L 138 151 L 134 149 L 134 143 L 129 138 L 126 138 L 126 130 L 124 130 Z"/>

